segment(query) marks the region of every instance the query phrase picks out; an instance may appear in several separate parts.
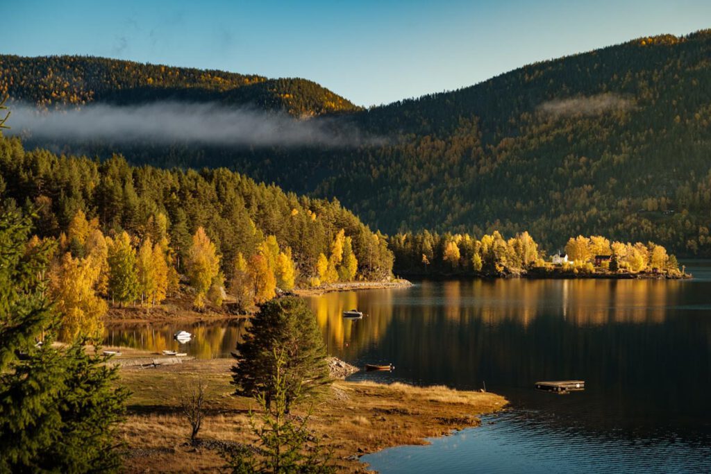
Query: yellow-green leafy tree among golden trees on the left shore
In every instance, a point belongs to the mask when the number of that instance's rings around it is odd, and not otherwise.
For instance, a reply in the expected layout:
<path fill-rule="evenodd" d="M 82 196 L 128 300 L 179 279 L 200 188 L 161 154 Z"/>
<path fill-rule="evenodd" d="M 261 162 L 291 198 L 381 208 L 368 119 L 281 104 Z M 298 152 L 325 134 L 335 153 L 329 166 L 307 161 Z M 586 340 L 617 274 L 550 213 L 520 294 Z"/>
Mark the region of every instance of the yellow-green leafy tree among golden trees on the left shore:
<path fill-rule="evenodd" d="M 114 241 L 109 241 L 109 296 L 112 301 L 133 303 L 139 296 L 139 280 L 136 267 L 136 250 L 131 237 L 122 232 Z"/>

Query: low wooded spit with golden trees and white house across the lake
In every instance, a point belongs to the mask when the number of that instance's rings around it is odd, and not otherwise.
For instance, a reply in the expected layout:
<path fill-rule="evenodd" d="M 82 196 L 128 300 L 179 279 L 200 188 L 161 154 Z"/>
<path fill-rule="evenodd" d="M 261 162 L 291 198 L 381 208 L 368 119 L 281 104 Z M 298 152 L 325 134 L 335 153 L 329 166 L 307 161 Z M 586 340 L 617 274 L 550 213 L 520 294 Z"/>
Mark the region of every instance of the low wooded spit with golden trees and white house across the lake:
<path fill-rule="evenodd" d="M 468 234 L 425 230 L 397 234 L 390 248 L 394 270 L 403 276 L 530 278 L 683 278 L 674 255 L 653 242 L 611 242 L 606 237 L 571 237 L 561 259 L 549 258 L 528 232 L 505 239 L 500 232 L 476 239 Z M 560 255 L 560 252 L 558 253 Z"/>

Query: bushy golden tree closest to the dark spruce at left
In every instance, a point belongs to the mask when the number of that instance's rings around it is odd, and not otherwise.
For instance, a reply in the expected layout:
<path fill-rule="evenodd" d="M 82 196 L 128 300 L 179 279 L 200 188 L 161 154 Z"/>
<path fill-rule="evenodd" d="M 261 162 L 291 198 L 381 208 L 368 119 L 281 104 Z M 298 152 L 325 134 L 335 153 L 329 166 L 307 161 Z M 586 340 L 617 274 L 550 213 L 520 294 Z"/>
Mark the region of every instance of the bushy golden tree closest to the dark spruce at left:
<path fill-rule="evenodd" d="M 104 331 L 103 316 L 108 305 L 94 290 L 99 268 L 89 259 L 63 254 L 50 270 L 50 295 L 62 315 L 60 337 L 73 340 L 80 335 L 100 340 Z"/>

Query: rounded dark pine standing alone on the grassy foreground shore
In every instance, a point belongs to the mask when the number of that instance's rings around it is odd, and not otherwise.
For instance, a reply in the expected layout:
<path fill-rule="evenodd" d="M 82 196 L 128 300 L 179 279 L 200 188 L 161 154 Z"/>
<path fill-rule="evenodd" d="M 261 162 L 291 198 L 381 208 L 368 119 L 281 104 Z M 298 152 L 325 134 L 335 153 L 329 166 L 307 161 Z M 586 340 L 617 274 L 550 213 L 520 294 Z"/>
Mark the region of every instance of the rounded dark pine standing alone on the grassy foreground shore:
<path fill-rule="evenodd" d="M 277 394 L 271 377 L 277 367 L 275 350 L 284 355 L 287 409 L 297 394 L 317 394 L 330 381 L 314 313 L 301 298 L 277 298 L 262 305 L 244 341 L 237 344 L 237 364 L 232 367 L 236 394 L 254 397 L 264 392 L 269 406 Z"/>

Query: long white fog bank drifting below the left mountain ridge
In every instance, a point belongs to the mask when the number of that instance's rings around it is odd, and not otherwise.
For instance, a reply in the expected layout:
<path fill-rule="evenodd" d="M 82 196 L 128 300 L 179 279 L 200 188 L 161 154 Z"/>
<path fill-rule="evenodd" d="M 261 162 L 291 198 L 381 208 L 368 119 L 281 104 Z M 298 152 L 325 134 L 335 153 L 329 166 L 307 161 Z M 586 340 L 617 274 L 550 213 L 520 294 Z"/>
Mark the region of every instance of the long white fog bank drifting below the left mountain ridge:
<path fill-rule="evenodd" d="M 153 102 L 135 106 L 90 104 L 80 109 L 38 111 L 11 105 L 11 129 L 36 140 L 241 146 L 360 146 L 386 140 L 363 134 L 335 118 L 295 119 L 285 113 L 221 104 Z"/>

